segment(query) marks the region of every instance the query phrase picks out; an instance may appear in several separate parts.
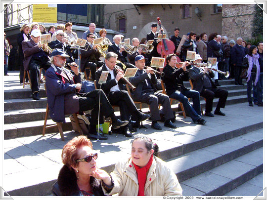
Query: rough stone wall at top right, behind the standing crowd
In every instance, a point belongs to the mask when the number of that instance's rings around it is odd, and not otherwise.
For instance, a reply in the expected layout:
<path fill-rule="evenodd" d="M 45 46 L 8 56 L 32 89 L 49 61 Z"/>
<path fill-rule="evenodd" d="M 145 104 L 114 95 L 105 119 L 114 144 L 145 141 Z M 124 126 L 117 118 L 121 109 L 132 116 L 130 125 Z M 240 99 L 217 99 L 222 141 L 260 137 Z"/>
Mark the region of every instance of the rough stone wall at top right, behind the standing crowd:
<path fill-rule="evenodd" d="M 252 38 L 255 4 L 223 4 L 222 36 L 229 40 Z"/>

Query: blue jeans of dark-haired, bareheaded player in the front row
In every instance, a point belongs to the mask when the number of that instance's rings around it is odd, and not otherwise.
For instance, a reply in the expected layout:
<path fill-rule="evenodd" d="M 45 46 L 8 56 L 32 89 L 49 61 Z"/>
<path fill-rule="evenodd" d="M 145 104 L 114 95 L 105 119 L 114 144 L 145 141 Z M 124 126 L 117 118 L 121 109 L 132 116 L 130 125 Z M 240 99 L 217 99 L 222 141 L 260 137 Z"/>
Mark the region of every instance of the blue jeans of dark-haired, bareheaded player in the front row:
<path fill-rule="evenodd" d="M 193 106 L 191 106 L 187 97 L 193 99 Z M 183 105 L 185 112 L 191 117 L 194 122 L 201 118 L 200 97 L 198 91 L 192 89 L 175 91 L 170 95 L 170 98 L 177 99 L 178 101 L 180 101 Z"/>

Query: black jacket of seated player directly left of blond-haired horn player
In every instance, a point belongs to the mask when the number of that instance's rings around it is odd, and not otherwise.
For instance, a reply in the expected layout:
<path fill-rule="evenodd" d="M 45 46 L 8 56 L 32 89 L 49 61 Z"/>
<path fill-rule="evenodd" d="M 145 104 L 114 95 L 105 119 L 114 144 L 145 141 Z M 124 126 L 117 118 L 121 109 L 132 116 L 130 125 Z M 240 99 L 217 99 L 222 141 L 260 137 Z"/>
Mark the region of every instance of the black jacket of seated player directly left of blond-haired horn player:
<path fill-rule="evenodd" d="M 93 49 L 89 43 L 85 45 L 85 49 L 87 51 L 81 51 L 81 72 L 85 71 L 86 62 L 100 61 L 99 58 L 101 56 L 101 53 L 96 48 Z"/>

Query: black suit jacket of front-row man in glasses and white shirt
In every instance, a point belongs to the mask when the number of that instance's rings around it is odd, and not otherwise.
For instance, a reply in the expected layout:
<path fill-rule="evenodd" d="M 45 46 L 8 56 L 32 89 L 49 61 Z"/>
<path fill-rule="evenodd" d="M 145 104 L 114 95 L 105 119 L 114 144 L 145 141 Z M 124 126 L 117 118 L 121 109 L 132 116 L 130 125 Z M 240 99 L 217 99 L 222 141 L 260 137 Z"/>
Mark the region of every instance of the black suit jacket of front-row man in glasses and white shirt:
<path fill-rule="evenodd" d="M 117 67 L 119 67 L 119 66 L 117 66 Z M 99 78 L 101 76 L 102 71 L 108 71 L 107 66 L 105 64 L 95 72 L 96 87 L 98 89 L 100 88 L 100 84 L 98 84 L 98 81 L 99 81 Z M 114 77 L 116 78 L 117 73 L 115 72 L 115 70 L 113 72 L 114 72 Z M 125 88 L 124 87 L 124 83 L 125 82 L 122 79 L 120 79 L 118 81 L 118 85 L 119 85 L 120 90 L 124 90 L 124 88 Z M 111 75 L 109 73 L 108 77 L 107 77 L 107 80 L 106 80 L 106 83 L 103 83 L 101 85 L 101 89 L 105 92 L 105 94 L 108 97 L 109 96 L 109 92 L 110 92 L 110 88 L 115 86 L 115 85 L 117 85 L 117 82 L 116 82 L 115 79 L 111 79 Z"/>

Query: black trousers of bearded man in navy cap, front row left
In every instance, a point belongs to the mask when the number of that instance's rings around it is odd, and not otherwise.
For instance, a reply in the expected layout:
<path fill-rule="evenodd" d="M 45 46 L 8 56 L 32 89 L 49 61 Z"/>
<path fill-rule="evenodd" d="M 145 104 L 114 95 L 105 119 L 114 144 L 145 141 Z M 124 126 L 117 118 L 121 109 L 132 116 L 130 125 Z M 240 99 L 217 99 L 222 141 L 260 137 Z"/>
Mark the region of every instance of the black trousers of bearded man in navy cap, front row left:
<path fill-rule="evenodd" d="M 106 94 L 101 89 L 95 89 L 90 92 L 83 94 L 79 97 L 79 112 L 89 111 L 91 112 L 91 124 L 96 125 L 98 120 L 98 109 L 99 109 L 99 95 L 100 95 L 100 113 L 99 123 L 104 123 L 103 116 L 109 117 L 114 110 L 110 105 Z"/>

